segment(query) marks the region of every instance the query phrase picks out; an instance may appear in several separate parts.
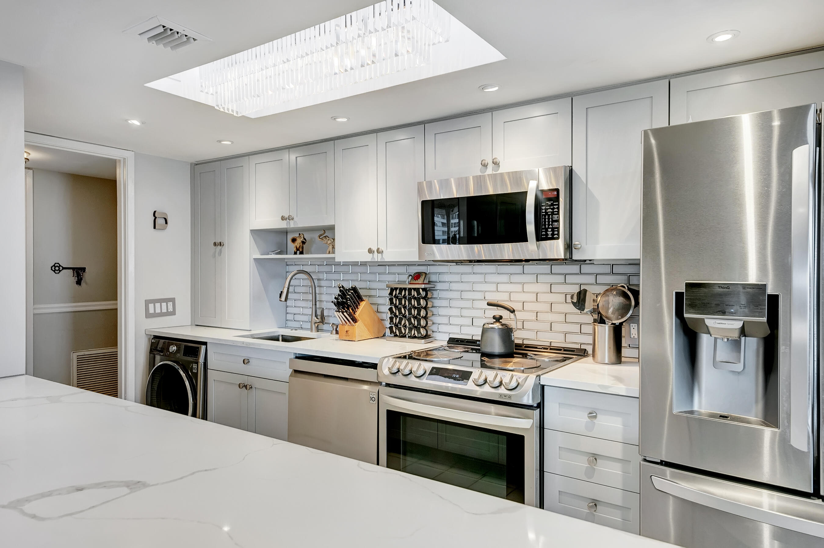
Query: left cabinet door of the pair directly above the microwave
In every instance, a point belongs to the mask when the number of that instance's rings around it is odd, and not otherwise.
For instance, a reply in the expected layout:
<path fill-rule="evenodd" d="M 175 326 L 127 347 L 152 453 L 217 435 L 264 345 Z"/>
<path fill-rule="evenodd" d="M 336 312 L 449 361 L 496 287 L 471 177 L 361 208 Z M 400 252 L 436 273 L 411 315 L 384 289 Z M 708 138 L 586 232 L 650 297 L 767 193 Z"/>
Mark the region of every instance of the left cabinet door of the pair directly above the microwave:
<path fill-rule="evenodd" d="M 491 172 L 492 114 L 428 123 L 425 132 L 426 180 Z"/>

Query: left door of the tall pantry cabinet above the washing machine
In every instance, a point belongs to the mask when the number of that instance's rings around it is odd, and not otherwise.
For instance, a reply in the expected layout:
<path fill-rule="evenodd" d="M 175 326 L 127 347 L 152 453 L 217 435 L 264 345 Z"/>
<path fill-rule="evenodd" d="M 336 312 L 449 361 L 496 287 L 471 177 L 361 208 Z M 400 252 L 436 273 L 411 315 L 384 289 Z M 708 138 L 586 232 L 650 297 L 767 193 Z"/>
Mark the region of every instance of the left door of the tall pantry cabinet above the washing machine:
<path fill-rule="evenodd" d="M 194 323 L 220 327 L 220 162 L 194 166 Z"/>

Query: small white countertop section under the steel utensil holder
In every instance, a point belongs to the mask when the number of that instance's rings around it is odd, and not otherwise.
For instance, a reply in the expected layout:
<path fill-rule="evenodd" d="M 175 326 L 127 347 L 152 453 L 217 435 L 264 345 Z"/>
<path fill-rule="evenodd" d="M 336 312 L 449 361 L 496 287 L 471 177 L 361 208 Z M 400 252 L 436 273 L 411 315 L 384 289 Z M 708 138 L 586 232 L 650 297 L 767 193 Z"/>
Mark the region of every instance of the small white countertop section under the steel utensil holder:
<path fill-rule="evenodd" d="M 621 365 L 602 365 L 596 364 L 592 361 L 592 355 L 588 355 L 541 375 L 541 384 L 638 397 L 638 377 L 637 361 L 625 361 Z"/>

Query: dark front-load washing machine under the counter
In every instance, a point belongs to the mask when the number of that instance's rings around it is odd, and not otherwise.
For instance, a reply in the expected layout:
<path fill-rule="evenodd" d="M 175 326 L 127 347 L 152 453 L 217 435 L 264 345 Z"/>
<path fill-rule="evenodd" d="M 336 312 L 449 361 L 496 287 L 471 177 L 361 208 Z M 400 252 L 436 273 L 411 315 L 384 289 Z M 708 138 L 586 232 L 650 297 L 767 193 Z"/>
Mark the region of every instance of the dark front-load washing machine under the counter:
<path fill-rule="evenodd" d="M 152 337 L 146 405 L 206 419 L 206 344 Z"/>

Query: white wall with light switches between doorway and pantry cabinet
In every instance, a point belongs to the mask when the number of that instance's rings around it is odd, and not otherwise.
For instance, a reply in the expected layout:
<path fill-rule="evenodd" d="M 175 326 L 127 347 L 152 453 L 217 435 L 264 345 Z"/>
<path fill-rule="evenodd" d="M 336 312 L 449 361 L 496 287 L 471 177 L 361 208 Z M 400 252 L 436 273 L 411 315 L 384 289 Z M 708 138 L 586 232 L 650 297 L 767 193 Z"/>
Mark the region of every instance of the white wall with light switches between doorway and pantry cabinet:
<path fill-rule="evenodd" d="M 169 215 L 169 228 L 152 229 L 152 211 Z M 158 156 L 134 155 L 134 386 L 143 402 L 148 374 L 151 327 L 191 323 L 191 193 L 190 164 Z M 175 297 L 175 316 L 146 318 L 147 299 Z"/>

